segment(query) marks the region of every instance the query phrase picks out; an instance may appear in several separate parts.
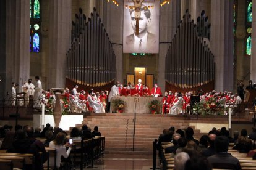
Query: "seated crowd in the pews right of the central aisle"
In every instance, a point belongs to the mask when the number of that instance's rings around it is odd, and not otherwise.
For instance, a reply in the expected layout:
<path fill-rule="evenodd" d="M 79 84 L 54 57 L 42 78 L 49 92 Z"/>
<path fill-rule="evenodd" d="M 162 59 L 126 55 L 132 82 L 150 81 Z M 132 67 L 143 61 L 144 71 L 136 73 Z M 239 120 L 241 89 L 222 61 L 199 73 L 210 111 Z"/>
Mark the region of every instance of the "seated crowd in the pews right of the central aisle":
<path fill-rule="evenodd" d="M 229 144 L 234 144 L 232 150 L 237 150 L 237 153 L 256 159 L 255 140 L 255 128 L 249 136 L 246 129 L 242 129 L 240 135 L 234 131 L 234 137 L 229 135 L 225 127 L 218 130 L 213 128 L 208 135 L 197 140 L 191 127 L 177 131 L 171 127 L 160 134 L 157 149 L 160 163 L 164 164 L 168 161 L 166 159 L 174 158 L 174 169 L 241 169 L 239 160 L 228 153 Z M 169 155 L 168 158 L 165 158 L 166 155 Z"/>

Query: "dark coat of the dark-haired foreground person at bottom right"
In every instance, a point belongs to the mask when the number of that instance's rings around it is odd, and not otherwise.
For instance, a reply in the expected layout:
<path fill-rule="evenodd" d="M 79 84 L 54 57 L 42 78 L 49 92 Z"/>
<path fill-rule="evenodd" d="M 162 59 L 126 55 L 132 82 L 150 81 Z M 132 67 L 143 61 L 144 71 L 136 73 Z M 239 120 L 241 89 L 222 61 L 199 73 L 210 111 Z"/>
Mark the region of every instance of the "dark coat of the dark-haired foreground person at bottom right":
<path fill-rule="evenodd" d="M 220 152 L 207 158 L 213 168 L 240 170 L 239 160 L 230 153 Z"/>

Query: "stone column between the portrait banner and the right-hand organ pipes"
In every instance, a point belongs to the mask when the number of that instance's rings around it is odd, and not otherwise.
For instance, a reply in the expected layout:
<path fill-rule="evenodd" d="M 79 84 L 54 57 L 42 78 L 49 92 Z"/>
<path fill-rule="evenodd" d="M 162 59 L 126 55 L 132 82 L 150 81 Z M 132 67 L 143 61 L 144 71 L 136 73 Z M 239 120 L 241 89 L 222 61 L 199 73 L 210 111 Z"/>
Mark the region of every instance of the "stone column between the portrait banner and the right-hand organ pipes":
<path fill-rule="evenodd" d="M 180 22 L 181 1 L 173 0 L 168 5 L 160 7 L 160 45 L 158 56 L 158 73 L 157 83 L 165 91 L 165 59 L 170 44 L 162 44 L 161 42 L 171 42 L 177 26 Z"/>

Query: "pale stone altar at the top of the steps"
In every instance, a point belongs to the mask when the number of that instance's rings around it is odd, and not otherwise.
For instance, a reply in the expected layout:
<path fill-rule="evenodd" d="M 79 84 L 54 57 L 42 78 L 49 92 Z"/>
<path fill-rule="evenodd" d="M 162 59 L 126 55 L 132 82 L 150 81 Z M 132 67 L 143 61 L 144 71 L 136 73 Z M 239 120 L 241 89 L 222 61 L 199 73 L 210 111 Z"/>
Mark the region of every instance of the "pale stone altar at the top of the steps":
<path fill-rule="evenodd" d="M 111 101 L 113 101 L 114 99 L 121 99 L 121 100 L 124 100 L 124 102 L 126 102 L 124 106 L 124 113 L 134 113 L 135 107 L 136 107 L 136 113 L 149 114 L 150 109 L 148 108 L 148 103 L 150 103 L 152 100 L 158 100 L 160 103 L 162 103 L 163 97 L 130 97 L 130 96 L 111 97 Z M 112 111 L 113 110 L 111 108 L 111 113 Z"/>

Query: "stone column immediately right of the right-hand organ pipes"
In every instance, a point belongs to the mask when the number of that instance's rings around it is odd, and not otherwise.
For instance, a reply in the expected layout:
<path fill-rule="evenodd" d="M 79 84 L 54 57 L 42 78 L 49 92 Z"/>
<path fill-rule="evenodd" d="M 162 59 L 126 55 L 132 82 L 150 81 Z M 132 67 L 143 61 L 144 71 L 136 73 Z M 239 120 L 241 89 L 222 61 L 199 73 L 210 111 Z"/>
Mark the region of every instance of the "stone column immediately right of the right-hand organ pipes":
<path fill-rule="evenodd" d="M 211 1 L 211 51 L 216 91 L 233 91 L 233 1 Z"/>

